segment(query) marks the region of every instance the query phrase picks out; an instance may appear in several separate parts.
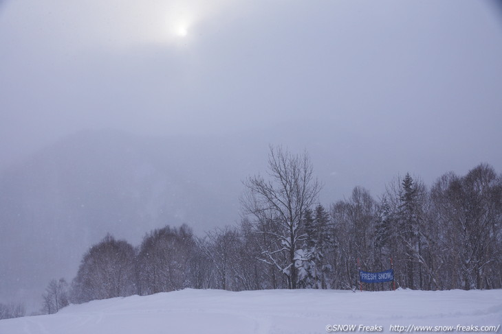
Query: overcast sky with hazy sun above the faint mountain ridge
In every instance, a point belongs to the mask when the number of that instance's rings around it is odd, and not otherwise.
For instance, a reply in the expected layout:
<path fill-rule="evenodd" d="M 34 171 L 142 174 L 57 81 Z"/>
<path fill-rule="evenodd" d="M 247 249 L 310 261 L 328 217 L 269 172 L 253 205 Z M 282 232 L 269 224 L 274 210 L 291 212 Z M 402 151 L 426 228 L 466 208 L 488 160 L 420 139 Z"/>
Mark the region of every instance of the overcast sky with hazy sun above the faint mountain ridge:
<path fill-rule="evenodd" d="M 0 167 L 80 129 L 285 119 L 502 166 L 488 1 L 3 0 L 0 45 Z"/>

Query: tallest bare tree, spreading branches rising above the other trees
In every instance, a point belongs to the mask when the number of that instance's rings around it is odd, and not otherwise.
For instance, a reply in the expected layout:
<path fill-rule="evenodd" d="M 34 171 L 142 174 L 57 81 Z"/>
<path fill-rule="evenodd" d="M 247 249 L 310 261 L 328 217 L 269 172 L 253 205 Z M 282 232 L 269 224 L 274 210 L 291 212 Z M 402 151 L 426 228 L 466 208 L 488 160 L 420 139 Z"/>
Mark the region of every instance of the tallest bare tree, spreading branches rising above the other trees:
<path fill-rule="evenodd" d="M 282 147 L 270 147 L 268 176 L 268 180 L 261 175 L 245 180 L 243 214 L 254 232 L 272 237 L 259 259 L 276 267 L 287 278 L 288 287 L 296 289 L 296 262 L 302 260 L 299 246 L 305 239 L 303 215 L 316 202 L 321 185 L 314 178 L 307 152 L 293 155 Z"/>

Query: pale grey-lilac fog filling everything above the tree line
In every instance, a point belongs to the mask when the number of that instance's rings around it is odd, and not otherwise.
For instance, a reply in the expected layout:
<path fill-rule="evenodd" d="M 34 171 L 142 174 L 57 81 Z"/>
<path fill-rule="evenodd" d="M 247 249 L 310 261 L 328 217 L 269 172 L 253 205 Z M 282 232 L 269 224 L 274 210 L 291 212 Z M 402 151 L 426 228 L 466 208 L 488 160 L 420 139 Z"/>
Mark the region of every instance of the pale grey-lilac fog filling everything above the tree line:
<path fill-rule="evenodd" d="M 269 144 L 309 152 L 327 205 L 501 171 L 494 3 L 0 1 L 0 301 L 37 307 L 106 232 L 235 224 Z"/>

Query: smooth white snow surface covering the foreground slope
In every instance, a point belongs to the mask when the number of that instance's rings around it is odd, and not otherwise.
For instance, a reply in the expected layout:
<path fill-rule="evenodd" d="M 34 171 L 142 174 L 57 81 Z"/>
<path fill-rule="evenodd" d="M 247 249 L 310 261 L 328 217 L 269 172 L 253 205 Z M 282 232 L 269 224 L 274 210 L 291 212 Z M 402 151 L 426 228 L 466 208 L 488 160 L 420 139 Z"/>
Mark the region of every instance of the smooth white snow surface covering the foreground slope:
<path fill-rule="evenodd" d="M 185 289 L 94 300 L 70 305 L 53 315 L 1 320 L 0 333 L 308 334 L 328 333 L 327 325 L 336 324 L 381 326 L 383 333 L 391 333 L 391 326 L 396 325 L 407 328 L 501 323 L 502 290 L 354 293 L 314 289 L 241 292 Z M 359 327 L 355 332 L 367 333 Z M 452 332 L 462 333 L 456 329 Z"/>

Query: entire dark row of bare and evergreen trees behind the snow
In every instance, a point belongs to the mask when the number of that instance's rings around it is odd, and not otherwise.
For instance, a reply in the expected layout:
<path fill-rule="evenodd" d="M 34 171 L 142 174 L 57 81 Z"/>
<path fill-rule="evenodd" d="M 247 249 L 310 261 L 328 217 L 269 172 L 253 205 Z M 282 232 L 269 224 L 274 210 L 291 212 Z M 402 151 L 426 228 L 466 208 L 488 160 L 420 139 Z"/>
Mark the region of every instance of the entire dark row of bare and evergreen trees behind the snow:
<path fill-rule="evenodd" d="M 186 224 L 148 232 L 134 247 L 111 235 L 89 248 L 72 283 L 53 280 L 45 313 L 69 302 L 184 288 L 356 289 L 358 262 L 393 259 L 397 287 L 502 287 L 502 175 L 481 164 L 427 187 L 406 174 L 375 199 L 362 187 L 325 207 L 307 152 L 271 147 L 266 176 L 243 181 L 241 224 L 196 237 Z M 367 289 L 389 289 L 383 283 Z"/>

